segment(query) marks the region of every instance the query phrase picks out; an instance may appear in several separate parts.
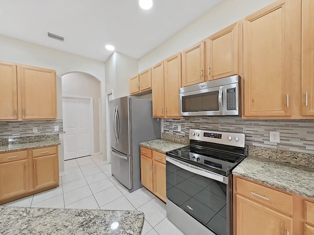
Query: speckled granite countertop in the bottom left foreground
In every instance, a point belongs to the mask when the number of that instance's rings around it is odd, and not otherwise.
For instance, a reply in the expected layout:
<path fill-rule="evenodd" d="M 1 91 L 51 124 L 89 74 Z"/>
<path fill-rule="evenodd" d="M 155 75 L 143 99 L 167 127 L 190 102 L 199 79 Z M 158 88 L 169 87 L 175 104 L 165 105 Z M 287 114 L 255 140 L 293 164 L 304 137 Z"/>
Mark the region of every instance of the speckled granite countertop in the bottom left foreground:
<path fill-rule="evenodd" d="M 141 211 L 0 207 L 1 235 L 140 235 Z"/>

